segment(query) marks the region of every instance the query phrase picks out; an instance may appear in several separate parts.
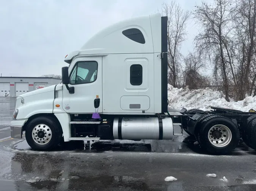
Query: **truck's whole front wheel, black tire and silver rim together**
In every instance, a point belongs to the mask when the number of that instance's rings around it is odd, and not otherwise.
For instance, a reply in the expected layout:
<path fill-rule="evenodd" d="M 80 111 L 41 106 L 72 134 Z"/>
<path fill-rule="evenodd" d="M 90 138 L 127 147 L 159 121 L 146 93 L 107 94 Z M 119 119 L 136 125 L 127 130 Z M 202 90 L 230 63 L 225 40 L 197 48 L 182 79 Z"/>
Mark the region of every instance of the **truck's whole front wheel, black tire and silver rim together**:
<path fill-rule="evenodd" d="M 52 117 L 37 117 L 32 119 L 26 128 L 26 140 L 34 150 L 52 150 L 61 140 L 58 123 Z"/>

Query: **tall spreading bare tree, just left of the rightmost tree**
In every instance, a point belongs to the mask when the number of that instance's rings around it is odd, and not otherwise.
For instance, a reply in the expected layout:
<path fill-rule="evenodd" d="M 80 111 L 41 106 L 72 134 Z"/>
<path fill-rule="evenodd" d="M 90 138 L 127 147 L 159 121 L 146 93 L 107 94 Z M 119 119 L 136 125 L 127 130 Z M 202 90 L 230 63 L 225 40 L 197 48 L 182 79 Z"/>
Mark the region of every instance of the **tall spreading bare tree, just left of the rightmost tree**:
<path fill-rule="evenodd" d="M 193 17 L 201 26 L 195 37 L 196 48 L 208 55 L 214 64 L 214 77 L 223 86 L 225 99 L 229 101 L 229 84 L 236 83 L 233 69 L 230 6 L 232 0 L 214 0 L 195 6 Z"/>

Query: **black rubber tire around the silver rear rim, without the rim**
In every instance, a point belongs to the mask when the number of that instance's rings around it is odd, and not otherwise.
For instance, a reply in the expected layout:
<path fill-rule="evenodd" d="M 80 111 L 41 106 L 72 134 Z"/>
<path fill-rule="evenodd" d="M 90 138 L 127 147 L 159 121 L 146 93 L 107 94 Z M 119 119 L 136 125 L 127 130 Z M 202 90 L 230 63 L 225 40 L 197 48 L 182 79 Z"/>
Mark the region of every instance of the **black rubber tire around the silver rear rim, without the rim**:
<path fill-rule="evenodd" d="M 225 125 L 229 128 L 232 134 L 231 141 L 228 145 L 217 147 L 208 139 L 208 132 L 214 125 Z M 198 133 L 198 139 L 201 148 L 205 149 L 210 154 L 228 154 L 232 152 L 239 142 L 239 129 L 230 119 L 222 116 L 209 116 L 201 121 L 201 128 Z"/>

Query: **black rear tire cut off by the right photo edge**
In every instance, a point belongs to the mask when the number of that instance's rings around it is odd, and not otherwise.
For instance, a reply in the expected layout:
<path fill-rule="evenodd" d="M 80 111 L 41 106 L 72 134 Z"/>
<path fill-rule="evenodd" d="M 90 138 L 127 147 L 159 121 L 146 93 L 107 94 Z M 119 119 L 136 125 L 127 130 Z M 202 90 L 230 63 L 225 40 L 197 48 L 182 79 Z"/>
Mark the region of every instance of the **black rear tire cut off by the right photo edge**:
<path fill-rule="evenodd" d="M 248 126 L 246 127 L 246 137 L 247 137 L 247 146 L 256 150 L 256 118 L 250 121 Z"/>

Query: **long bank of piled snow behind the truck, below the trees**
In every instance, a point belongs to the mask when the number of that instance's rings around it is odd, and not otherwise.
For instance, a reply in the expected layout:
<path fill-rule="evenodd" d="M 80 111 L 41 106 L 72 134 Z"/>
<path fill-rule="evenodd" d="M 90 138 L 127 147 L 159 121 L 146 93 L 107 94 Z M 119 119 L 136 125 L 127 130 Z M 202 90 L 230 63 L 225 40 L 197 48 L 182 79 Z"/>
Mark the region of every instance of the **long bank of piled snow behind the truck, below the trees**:
<path fill-rule="evenodd" d="M 169 107 L 174 109 L 202 109 L 210 110 L 210 106 L 237 109 L 248 112 L 250 109 L 256 110 L 256 96 L 246 97 L 242 101 L 227 102 L 224 97 L 221 97 L 220 92 L 213 91 L 210 88 L 193 89 L 173 88 L 168 85 L 168 100 Z"/>

